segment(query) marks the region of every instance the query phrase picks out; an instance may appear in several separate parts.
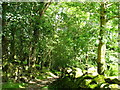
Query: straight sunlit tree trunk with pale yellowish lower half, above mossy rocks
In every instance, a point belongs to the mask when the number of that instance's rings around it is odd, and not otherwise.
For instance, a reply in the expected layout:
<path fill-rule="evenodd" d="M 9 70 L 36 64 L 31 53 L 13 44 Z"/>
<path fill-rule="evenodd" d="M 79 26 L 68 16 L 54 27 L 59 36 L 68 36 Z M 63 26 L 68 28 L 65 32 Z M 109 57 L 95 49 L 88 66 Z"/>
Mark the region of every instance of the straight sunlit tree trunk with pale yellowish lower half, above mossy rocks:
<path fill-rule="evenodd" d="M 106 42 L 105 42 L 105 37 L 106 37 L 106 30 L 105 30 L 105 25 L 106 25 L 106 11 L 105 11 L 105 3 L 101 2 L 100 5 L 100 38 L 99 38 L 99 45 L 98 45 L 98 59 L 97 59 L 97 64 L 98 64 L 98 73 L 100 75 L 104 75 L 105 72 L 105 53 L 106 53 Z"/>

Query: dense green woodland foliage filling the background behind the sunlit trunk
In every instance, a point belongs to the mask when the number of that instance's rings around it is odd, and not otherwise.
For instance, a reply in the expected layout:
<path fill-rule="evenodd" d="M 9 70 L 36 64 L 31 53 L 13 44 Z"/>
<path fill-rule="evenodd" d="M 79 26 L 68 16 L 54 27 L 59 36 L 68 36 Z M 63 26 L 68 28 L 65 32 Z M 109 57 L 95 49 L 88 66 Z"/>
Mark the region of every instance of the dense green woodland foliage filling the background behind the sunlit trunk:
<path fill-rule="evenodd" d="M 106 3 L 105 75 L 118 76 L 118 4 Z M 3 3 L 3 82 L 29 82 L 67 67 L 97 67 L 100 3 Z M 112 18 L 114 17 L 114 18 Z"/>

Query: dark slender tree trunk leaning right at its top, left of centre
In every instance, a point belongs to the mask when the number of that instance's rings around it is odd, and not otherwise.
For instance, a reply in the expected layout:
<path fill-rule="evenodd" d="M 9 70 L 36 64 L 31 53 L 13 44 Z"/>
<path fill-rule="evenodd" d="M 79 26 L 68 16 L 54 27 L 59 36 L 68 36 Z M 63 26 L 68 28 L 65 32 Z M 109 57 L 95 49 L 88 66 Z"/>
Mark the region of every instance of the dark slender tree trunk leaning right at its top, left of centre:
<path fill-rule="evenodd" d="M 37 57 L 37 46 L 38 46 L 38 41 L 39 41 L 39 34 L 40 34 L 40 30 L 39 27 L 37 25 L 39 25 L 40 23 L 38 22 L 38 20 L 41 19 L 41 17 L 43 16 L 43 14 L 45 13 L 45 11 L 47 10 L 47 8 L 49 7 L 49 5 L 51 4 L 51 2 L 48 3 L 43 3 L 41 2 L 41 8 L 38 9 L 38 11 L 36 13 L 39 14 L 38 17 L 36 17 L 37 21 L 35 22 L 35 24 L 33 24 L 34 27 L 34 32 L 33 32 L 33 40 L 31 43 L 31 47 L 30 47 L 30 58 L 29 58 L 29 64 L 33 65 L 36 61 L 36 57 Z M 43 61 L 41 62 L 41 68 L 43 67 Z"/>

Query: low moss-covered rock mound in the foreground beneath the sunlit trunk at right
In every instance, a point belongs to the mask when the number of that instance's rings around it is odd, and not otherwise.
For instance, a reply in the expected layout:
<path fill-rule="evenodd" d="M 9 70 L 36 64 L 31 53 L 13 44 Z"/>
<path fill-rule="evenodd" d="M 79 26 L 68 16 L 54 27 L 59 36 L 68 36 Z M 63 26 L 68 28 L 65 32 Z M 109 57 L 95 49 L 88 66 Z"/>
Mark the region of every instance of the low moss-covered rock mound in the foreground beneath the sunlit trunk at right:
<path fill-rule="evenodd" d="M 107 81 L 106 81 L 107 80 Z M 110 83 L 109 81 L 111 81 L 110 79 L 106 79 L 103 75 L 97 75 L 97 76 L 93 76 L 93 75 L 89 75 L 89 74 L 85 74 L 82 75 L 81 77 L 78 78 L 73 78 L 73 77 L 68 77 L 65 76 L 63 78 L 59 78 L 57 79 L 55 82 L 53 82 L 51 84 L 51 87 L 54 87 L 54 89 L 59 89 L 59 88 L 68 88 L 68 89 L 88 89 L 88 90 L 96 90 L 96 89 L 100 89 L 100 88 L 104 88 L 104 89 L 110 89 L 110 88 L 117 88 L 118 85 L 117 84 L 113 84 Z M 114 82 L 118 80 L 114 79 L 112 80 Z M 52 90 L 54 90 L 52 89 Z"/>

